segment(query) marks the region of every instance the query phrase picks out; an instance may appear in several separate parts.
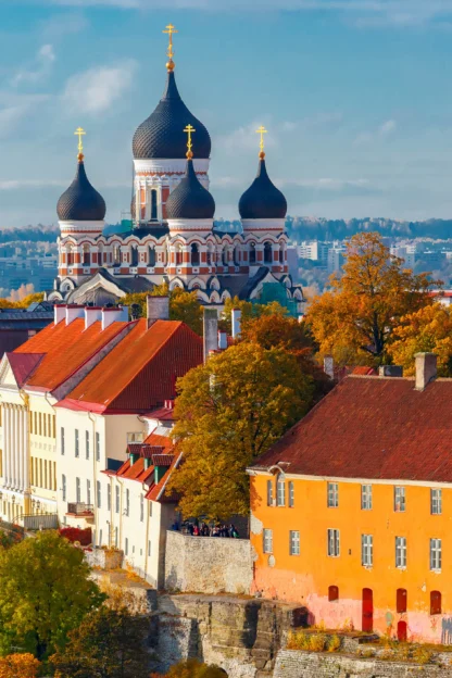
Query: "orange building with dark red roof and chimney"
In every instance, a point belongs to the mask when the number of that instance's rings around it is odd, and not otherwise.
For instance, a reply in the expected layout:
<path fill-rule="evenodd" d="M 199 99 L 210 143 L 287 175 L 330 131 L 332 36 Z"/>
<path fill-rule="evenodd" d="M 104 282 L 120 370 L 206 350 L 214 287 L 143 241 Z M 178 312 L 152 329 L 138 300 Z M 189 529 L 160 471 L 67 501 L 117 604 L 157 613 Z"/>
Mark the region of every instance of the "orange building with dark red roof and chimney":
<path fill-rule="evenodd" d="M 254 587 L 314 624 L 452 642 L 452 379 L 350 376 L 249 469 Z"/>

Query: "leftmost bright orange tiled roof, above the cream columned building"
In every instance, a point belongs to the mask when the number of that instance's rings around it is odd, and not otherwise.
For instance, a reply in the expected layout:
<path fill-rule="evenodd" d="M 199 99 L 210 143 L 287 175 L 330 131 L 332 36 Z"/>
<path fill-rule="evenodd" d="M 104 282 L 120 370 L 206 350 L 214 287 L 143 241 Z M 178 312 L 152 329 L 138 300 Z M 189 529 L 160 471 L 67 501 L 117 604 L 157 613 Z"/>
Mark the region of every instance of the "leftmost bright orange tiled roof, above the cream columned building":
<path fill-rule="evenodd" d="M 85 319 L 70 325 L 61 321 L 41 329 L 15 349 L 14 354 L 43 353 L 45 356 L 26 381 L 27 387 L 52 391 L 108 344 L 128 323 L 115 322 L 101 330 L 100 321 L 85 329 Z"/>

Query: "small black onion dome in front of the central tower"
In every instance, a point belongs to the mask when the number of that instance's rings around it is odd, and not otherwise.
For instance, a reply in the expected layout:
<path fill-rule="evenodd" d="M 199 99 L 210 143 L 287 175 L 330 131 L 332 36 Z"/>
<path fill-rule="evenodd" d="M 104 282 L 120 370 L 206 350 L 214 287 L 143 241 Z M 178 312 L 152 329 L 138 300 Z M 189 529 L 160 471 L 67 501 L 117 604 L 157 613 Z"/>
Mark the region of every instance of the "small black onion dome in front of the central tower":
<path fill-rule="evenodd" d="M 214 214 L 215 201 L 198 180 L 193 161 L 187 160 L 185 177 L 166 200 L 166 216 L 168 219 L 201 219 L 213 218 Z"/>

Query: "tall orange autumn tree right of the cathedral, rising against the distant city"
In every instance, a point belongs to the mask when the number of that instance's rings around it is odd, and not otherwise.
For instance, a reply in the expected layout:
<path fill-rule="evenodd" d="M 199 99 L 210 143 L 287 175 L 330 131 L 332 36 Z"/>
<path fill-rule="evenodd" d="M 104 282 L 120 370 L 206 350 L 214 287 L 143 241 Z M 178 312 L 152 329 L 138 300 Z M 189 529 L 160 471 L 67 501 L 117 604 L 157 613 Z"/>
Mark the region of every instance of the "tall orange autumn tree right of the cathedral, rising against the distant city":
<path fill-rule="evenodd" d="M 432 303 L 429 290 L 439 281 L 415 275 L 390 254 L 376 233 L 353 236 L 341 277 L 313 300 L 306 323 L 321 355 L 338 362 L 381 364 L 401 318 Z"/>

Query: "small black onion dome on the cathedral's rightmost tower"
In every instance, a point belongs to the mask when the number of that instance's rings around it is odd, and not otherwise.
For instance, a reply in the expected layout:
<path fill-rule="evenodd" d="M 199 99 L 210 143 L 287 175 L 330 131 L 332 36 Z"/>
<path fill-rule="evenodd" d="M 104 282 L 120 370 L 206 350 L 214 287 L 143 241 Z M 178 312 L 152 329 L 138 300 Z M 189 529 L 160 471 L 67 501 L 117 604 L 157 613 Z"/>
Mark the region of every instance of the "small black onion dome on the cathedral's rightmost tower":
<path fill-rule="evenodd" d="M 287 201 L 267 174 L 265 160 L 259 161 L 258 175 L 239 201 L 241 218 L 284 218 Z"/>

